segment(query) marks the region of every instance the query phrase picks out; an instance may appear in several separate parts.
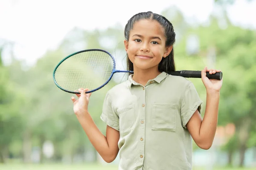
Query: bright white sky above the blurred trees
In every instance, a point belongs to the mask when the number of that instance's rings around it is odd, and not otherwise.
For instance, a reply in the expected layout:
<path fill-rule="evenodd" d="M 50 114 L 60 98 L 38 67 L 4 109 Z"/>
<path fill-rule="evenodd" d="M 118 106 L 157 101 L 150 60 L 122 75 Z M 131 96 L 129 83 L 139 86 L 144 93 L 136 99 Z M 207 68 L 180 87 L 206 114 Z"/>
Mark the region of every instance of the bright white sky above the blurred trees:
<path fill-rule="evenodd" d="M 14 55 L 32 65 L 58 46 L 74 27 L 87 30 L 125 26 L 136 13 L 161 13 L 175 5 L 187 20 L 207 22 L 214 0 L 0 0 L 0 40 L 14 42 Z M 236 25 L 256 28 L 256 0 L 236 0 L 228 15 Z M 1 46 L 1 41 L 0 41 Z M 5 63 L 10 51 L 3 53 Z"/>

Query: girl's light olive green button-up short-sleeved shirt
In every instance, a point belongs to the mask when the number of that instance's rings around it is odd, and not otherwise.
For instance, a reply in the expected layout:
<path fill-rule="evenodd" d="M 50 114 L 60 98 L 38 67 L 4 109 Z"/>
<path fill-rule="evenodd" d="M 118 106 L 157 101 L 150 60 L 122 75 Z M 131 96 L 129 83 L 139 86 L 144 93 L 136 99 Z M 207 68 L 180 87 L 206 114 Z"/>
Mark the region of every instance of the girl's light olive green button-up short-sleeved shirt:
<path fill-rule="evenodd" d="M 191 170 L 186 124 L 202 104 L 194 85 L 165 72 L 145 86 L 132 76 L 108 91 L 101 115 L 120 133 L 119 170 Z"/>

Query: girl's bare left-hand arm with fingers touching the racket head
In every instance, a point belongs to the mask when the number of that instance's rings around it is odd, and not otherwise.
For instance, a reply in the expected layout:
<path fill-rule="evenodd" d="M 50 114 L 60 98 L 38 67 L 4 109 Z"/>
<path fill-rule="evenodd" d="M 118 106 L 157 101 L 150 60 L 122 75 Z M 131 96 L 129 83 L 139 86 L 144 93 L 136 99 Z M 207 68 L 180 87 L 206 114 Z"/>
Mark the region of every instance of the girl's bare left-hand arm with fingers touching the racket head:
<path fill-rule="evenodd" d="M 72 97 L 74 103 L 74 112 L 79 120 L 79 123 L 88 136 L 88 139 L 93 144 L 93 147 L 102 156 L 104 161 L 112 162 L 118 152 L 119 131 L 107 126 L 106 136 L 104 136 L 93 122 L 92 117 L 88 112 L 88 102 L 91 94 L 85 94 L 84 90 L 79 89 L 80 94 L 77 94 L 79 99 Z"/>

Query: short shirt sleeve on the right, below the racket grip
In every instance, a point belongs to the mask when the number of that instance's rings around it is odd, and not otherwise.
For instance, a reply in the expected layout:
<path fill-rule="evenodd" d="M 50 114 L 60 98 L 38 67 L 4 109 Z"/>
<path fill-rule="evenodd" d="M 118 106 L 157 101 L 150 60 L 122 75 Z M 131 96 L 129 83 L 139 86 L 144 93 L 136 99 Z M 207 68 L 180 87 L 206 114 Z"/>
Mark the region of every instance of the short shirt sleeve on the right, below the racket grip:
<path fill-rule="evenodd" d="M 195 89 L 195 86 L 192 82 L 189 82 L 189 85 L 186 87 L 185 92 L 182 96 L 180 116 L 182 121 L 182 126 L 186 128 L 186 124 L 189 122 L 189 119 L 198 109 L 201 113 L 201 101 L 198 92 Z"/>

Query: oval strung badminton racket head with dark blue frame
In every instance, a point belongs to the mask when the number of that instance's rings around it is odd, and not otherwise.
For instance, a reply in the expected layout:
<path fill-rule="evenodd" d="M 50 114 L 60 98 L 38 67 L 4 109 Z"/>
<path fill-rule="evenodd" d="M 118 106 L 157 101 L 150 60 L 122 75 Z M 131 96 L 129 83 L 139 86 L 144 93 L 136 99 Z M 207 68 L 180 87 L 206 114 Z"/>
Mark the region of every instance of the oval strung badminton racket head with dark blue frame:
<path fill-rule="evenodd" d="M 55 85 L 62 91 L 80 94 L 79 88 L 88 88 L 90 91 L 85 93 L 92 93 L 104 87 L 115 71 L 115 59 L 108 51 L 87 49 L 77 51 L 62 59 L 56 65 L 52 76 Z M 95 82 L 96 79 L 99 81 Z"/>

